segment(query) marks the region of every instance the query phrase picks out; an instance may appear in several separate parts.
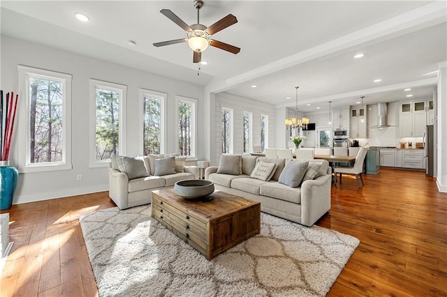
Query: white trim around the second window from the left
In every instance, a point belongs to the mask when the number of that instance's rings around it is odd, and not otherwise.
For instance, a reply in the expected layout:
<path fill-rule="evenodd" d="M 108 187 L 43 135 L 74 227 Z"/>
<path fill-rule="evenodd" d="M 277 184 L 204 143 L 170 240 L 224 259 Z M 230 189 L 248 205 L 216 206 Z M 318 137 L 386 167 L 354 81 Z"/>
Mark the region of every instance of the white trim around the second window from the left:
<path fill-rule="evenodd" d="M 127 86 L 124 84 L 115 84 L 104 82 L 98 79 L 89 79 L 89 97 L 90 97 L 90 160 L 89 167 L 108 167 L 110 159 L 96 160 L 96 87 L 108 89 L 119 93 L 119 155 L 126 155 L 126 101 Z"/>

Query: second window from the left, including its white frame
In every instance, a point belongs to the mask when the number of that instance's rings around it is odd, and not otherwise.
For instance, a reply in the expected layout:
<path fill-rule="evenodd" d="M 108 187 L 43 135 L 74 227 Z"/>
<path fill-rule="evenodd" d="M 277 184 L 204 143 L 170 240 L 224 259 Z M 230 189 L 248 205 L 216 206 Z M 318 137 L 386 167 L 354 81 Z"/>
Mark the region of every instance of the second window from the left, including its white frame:
<path fill-rule="evenodd" d="M 107 166 L 112 155 L 125 155 L 126 86 L 90 79 L 90 166 Z"/>

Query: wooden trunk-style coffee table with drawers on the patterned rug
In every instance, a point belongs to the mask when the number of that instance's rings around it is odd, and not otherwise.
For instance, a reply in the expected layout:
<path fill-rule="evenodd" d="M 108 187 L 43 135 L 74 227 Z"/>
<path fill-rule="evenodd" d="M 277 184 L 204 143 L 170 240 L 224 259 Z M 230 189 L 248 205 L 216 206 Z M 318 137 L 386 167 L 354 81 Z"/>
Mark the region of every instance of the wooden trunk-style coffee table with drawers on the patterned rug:
<path fill-rule="evenodd" d="M 183 199 L 173 190 L 153 191 L 152 217 L 208 260 L 261 231 L 261 203 L 226 192 Z"/>

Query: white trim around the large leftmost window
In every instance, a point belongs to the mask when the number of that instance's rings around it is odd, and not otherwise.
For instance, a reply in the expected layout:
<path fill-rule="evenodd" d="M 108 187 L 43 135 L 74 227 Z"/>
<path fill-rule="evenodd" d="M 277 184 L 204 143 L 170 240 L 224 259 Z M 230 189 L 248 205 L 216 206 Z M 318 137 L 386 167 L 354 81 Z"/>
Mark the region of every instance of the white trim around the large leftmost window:
<path fill-rule="evenodd" d="M 18 170 L 20 173 L 25 172 L 47 172 L 52 170 L 72 169 L 71 163 L 71 79 L 72 76 L 66 73 L 58 73 L 55 71 L 32 68 L 27 66 L 17 66 L 19 93 L 24 94 L 24 100 L 19 98 L 16 123 L 18 122 L 18 144 L 19 144 L 19 162 Z M 62 127 L 62 161 L 47 163 L 30 163 L 29 159 L 29 77 L 41 77 L 43 79 L 52 79 L 61 82 L 63 85 L 63 116 L 64 125 Z"/>

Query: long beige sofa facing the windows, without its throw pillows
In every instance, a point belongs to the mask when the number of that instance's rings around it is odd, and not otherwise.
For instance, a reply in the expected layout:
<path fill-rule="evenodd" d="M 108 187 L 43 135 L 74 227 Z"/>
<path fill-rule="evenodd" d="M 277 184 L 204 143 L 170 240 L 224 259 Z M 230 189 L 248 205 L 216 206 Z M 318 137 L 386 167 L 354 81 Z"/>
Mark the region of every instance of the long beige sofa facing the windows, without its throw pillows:
<path fill-rule="evenodd" d="M 205 169 L 205 179 L 212 181 L 217 190 L 261 202 L 261 211 L 264 213 L 310 227 L 330 209 L 332 174 L 328 161 L 309 160 L 305 172 L 311 173 L 309 168 L 312 167 L 314 175 L 309 174 L 311 179 L 308 176 L 298 187 L 292 188 L 278 182 L 288 160 L 242 155 L 240 168 L 234 172 L 236 174 L 218 173 L 219 168 L 225 166 L 222 164 L 225 160 L 222 160 L 221 156 L 219 167 Z M 270 181 L 253 178 L 257 162 L 278 165 Z M 315 171 L 318 173 L 315 174 Z"/>

